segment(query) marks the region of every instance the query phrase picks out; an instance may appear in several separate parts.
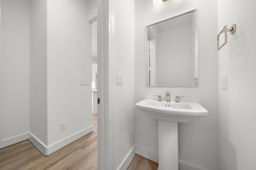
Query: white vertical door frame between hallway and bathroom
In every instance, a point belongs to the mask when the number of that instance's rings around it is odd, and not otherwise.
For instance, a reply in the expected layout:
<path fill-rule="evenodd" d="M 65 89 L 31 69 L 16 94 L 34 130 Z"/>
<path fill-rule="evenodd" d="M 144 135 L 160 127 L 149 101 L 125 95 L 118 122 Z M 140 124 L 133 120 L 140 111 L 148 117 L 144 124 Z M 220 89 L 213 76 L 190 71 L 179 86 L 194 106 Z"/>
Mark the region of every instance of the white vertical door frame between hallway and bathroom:
<path fill-rule="evenodd" d="M 108 169 L 108 0 L 98 0 L 98 170 Z"/>

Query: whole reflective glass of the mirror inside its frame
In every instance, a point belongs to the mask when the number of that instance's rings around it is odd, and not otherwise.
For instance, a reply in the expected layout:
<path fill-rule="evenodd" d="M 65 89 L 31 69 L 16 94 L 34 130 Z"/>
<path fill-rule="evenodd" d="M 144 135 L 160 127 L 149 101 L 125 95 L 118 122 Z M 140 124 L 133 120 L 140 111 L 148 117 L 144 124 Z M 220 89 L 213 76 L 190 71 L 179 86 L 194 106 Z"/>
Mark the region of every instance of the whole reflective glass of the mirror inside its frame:
<path fill-rule="evenodd" d="M 196 87 L 196 10 L 146 27 L 147 86 Z"/>

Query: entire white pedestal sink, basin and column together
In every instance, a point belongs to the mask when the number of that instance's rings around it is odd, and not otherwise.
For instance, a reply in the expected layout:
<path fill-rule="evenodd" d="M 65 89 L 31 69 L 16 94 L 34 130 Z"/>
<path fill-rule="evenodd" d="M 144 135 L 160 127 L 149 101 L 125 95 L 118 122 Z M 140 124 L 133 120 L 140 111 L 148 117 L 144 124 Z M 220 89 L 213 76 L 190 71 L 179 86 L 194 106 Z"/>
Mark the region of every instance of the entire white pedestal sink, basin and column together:
<path fill-rule="evenodd" d="M 208 115 L 195 102 L 158 102 L 145 99 L 135 104 L 148 116 L 158 119 L 158 170 L 178 170 L 178 122 Z"/>

